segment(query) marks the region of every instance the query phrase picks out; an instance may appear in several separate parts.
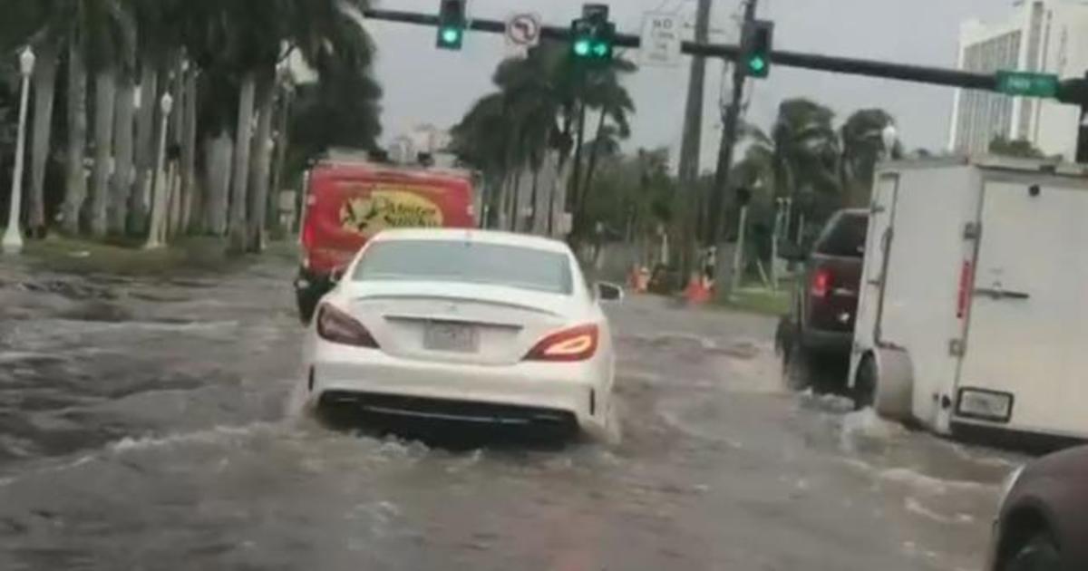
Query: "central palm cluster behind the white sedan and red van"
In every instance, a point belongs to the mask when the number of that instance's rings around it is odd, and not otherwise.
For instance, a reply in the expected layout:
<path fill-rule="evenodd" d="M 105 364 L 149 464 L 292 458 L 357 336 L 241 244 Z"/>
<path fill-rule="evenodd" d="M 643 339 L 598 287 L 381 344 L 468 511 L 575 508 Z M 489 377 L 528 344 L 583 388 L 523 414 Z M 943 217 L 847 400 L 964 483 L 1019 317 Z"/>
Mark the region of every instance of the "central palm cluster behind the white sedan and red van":
<path fill-rule="evenodd" d="M 556 200 L 573 214 L 572 234 L 585 234 L 586 197 L 602 154 L 619 149 L 630 136 L 629 116 L 634 102 L 622 85 L 622 76 L 636 66 L 617 57 L 603 67 L 585 67 L 570 58 L 566 45 L 545 41 L 524 58 L 503 61 L 495 70 L 496 90 L 480 98 L 454 127 L 453 151 L 484 175 L 490 225 L 499 213 L 518 228 L 520 174 L 533 173 L 530 199 L 535 207 L 540 193 L 547 193 L 548 231 Z M 596 113 L 595 116 L 591 113 Z M 595 125 L 588 124 L 590 120 Z M 592 129 L 592 140 L 586 132 Z M 543 189 L 537 178 L 552 154 L 558 173 L 569 178 L 560 188 Z M 558 191 L 557 191 L 558 190 Z"/>

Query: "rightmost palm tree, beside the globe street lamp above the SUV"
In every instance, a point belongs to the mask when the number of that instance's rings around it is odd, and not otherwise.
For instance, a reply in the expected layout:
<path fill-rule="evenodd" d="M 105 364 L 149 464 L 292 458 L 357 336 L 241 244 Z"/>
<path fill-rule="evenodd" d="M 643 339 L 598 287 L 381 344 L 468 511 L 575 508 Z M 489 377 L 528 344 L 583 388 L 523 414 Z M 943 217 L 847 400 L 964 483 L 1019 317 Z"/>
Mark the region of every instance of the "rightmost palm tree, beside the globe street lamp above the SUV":
<path fill-rule="evenodd" d="M 851 114 L 839 128 L 842 138 L 839 171 L 846 194 L 846 206 L 868 204 L 873 188 L 873 171 L 877 161 L 887 152 L 883 129 L 894 124 L 895 120 L 882 109 L 863 109 Z M 902 156 L 902 152 L 899 142 L 891 149 L 893 158 Z"/>

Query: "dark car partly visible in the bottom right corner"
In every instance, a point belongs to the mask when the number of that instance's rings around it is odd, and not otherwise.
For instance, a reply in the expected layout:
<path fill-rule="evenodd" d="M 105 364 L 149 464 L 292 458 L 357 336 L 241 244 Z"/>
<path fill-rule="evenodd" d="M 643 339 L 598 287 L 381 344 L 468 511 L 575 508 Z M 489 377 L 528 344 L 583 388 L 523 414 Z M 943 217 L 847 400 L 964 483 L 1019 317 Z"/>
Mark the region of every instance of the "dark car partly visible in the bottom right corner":
<path fill-rule="evenodd" d="M 1047 456 L 1004 486 L 987 571 L 1088 569 L 1088 446 Z"/>

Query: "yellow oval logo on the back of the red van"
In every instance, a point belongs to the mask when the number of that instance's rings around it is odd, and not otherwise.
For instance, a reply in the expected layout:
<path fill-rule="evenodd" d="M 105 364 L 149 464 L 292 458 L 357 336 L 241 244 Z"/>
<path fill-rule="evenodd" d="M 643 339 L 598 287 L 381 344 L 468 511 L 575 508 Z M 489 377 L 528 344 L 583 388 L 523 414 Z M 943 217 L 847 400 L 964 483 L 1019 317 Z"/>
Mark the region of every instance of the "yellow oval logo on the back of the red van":
<path fill-rule="evenodd" d="M 379 190 L 344 201 L 341 226 L 355 234 L 372 236 L 384 228 L 441 227 L 442 209 L 417 193 Z"/>

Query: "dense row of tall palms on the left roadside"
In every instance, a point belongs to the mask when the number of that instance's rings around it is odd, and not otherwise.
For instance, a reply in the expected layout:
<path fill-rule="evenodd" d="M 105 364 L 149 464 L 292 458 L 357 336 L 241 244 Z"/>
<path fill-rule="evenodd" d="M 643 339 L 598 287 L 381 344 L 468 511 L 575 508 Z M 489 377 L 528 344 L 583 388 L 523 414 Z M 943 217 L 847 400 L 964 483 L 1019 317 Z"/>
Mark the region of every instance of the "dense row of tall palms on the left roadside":
<path fill-rule="evenodd" d="M 0 133 L 15 115 L 4 113 L 12 62 L 23 46 L 37 55 L 24 214 L 32 236 L 50 227 L 94 238 L 200 233 L 259 250 L 275 229 L 285 172 L 329 146 L 375 147 L 381 88 L 361 25 L 366 0 L 4 4 Z M 316 84 L 295 85 L 293 59 Z"/>

